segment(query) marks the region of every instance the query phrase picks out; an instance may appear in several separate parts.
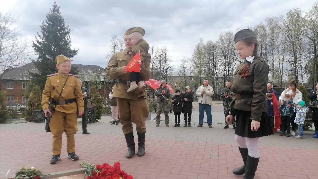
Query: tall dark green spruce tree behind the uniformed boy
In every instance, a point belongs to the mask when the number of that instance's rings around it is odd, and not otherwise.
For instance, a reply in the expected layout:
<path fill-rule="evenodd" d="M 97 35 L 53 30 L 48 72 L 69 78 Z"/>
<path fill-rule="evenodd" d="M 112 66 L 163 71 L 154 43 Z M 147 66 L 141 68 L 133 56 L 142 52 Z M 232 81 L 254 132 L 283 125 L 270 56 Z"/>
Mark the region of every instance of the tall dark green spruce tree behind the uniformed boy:
<path fill-rule="evenodd" d="M 68 58 L 74 57 L 78 49 L 72 50 L 69 25 L 65 25 L 64 18 L 59 11 L 60 7 L 54 1 L 52 9 L 47 13 L 45 20 L 42 22 L 41 34 L 32 42 L 32 47 L 38 58 L 34 60 L 35 68 L 39 73 L 31 73 L 33 81 L 41 90 L 44 89 L 46 75 L 57 73 L 56 56 L 63 54 Z M 71 68 L 70 74 L 77 75 L 78 69 Z"/>

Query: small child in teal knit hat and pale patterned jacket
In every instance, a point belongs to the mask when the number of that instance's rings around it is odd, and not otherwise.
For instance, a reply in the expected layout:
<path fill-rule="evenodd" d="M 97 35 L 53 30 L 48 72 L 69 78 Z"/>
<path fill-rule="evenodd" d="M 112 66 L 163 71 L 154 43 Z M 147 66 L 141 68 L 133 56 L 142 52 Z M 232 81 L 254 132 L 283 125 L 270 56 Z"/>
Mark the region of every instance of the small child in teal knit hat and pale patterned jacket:
<path fill-rule="evenodd" d="M 305 122 L 305 118 L 306 118 L 306 113 L 308 112 L 308 107 L 305 106 L 305 101 L 300 101 L 297 103 L 297 107 L 296 108 L 296 104 L 294 104 L 294 111 L 296 112 L 296 117 L 295 117 L 295 122 L 296 124 L 298 124 L 298 136 L 296 136 L 296 139 L 302 139 L 304 138 L 303 134 L 304 131 L 302 129 L 302 126 L 304 125 Z"/>

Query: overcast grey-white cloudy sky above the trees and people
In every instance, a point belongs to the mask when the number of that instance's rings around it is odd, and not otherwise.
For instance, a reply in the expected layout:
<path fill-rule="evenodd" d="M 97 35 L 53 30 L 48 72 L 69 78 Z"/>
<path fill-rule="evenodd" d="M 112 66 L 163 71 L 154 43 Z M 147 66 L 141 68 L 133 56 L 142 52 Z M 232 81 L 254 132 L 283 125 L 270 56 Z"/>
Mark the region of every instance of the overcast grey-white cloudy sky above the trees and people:
<path fill-rule="evenodd" d="M 0 0 L 0 11 L 18 18 L 16 25 L 30 41 L 40 32 L 53 0 Z M 220 33 L 254 27 L 268 16 L 300 8 L 304 12 L 315 0 L 56 0 L 71 29 L 72 49 L 79 49 L 74 64 L 107 66 L 113 35 L 141 26 L 144 39 L 159 48 L 167 46 L 173 67 L 190 58 L 200 38 L 217 40 Z M 36 58 L 37 56 L 34 56 Z"/>

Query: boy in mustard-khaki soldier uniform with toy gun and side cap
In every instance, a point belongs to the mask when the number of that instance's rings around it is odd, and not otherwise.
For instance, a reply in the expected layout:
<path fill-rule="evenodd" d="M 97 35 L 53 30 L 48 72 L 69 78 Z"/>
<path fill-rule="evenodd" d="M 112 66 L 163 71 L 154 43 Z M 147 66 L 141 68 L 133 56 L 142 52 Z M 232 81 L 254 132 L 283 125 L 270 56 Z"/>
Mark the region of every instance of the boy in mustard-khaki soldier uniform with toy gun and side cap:
<path fill-rule="evenodd" d="M 60 160 L 62 149 L 62 134 L 66 133 L 67 158 L 78 160 L 75 154 L 75 137 L 77 132 L 77 108 L 79 116 L 84 113 L 84 100 L 77 75 L 68 74 L 71 71 L 71 60 L 64 55 L 56 57 L 58 73 L 48 75 L 42 93 L 42 108 L 45 117 L 51 114 L 50 129 L 53 134 L 53 156 L 50 161 L 55 164 Z M 53 99 L 54 112 L 49 110 L 50 98 Z M 76 104 L 77 103 L 77 104 Z"/>

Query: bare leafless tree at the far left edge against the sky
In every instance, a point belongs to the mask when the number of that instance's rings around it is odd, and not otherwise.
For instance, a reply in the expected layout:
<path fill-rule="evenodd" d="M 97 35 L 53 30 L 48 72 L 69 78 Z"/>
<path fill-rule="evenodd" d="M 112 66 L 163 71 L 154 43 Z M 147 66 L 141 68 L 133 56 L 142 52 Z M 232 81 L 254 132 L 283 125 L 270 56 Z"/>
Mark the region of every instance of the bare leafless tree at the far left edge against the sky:
<path fill-rule="evenodd" d="M 3 76 L 1 71 L 16 68 L 30 60 L 28 42 L 15 27 L 16 22 L 11 13 L 0 11 L 0 79 Z"/>

